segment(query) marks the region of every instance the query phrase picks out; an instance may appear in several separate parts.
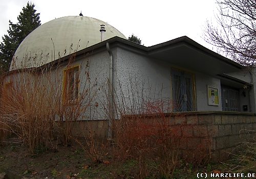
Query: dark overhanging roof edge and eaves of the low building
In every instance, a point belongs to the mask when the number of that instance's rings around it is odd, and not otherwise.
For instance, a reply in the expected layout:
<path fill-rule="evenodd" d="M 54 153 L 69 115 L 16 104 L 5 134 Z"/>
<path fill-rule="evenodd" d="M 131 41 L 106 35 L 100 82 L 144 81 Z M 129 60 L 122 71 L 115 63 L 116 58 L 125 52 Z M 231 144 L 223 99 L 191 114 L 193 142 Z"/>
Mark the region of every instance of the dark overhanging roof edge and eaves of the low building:
<path fill-rule="evenodd" d="M 197 70 L 197 71 L 198 70 L 200 71 L 200 69 L 205 69 L 205 66 L 204 68 L 202 68 L 202 65 L 207 65 L 207 66 L 209 65 L 210 69 L 212 69 L 211 63 L 217 64 L 214 70 L 217 70 L 218 72 L 220 72 L 220 74 L 222 74 L 221 72 L 223 70 L 225 70 L 225 72 L 226 71 L 229 72 L 229 71 L 236 71 L 236 70 L 241 70 L 245 68 L 243 65 L 237 62 L 234 62 L 216 52 L 213 52 L 205 48 L 204 46 L 188 38 L 187 36 L 182 36 L 182 37 L 169 40 L 163 43 L 159 43 L 150 47 L 145 47 L 135 42 L 132 42 L 130 40 L 115 36 L 110 39 L 101 41 L 97 44 L 94 44 L 91 47 L 82 49 L 73 54 L 67 55 L 65 57 L 62 57 L 60 59 L 54 60 L 52 62 L 49 62 L 47 64 L 41 65 L 33 69 L 36 71 L 37 70 L 40 71 L 41 69 L 44 69 L 48 66 L 51 66 L 57 63 L 59 64 L 63 61 L 66 61 L 74 54 L 75 56 L 79 56 L 79 55 L 88 54 L 89 52 L 91 52 L 90 54 L 97 53 L 97 50 L 99 49 L 106 50 L 105 49 L 106 42 L 110 43 L 110 47 L 112 47 L 113 44 L 118 43 L 118 44 L 121 44 L 122 46 L 128 46 L 128 47 L 134 48 L 137 51 L 141 51 L 148 57 L 156 58 L 160 60 L 168 60 L 170 63 L 176 64 L 176 65 L 182 65 L 182 66 L 185 65 L 191 68 L 193 67 L 193 64 L 195 64 L 194 70 Z M 182 53 L 182 51 L 184 50 L 187 51 L 188 53 Z M 191 59 L 191 56 L 194 57 L 194 60 L 196 61 L 191 61 L 191 60 L 189 61 L 189 59 Z M 201 65 L 198 65 L 196 63 L 200 63 Z M 218 70 L 220 68 L 221 70 Z M 205 70 L 201 72 L 207 73 L 209 71 Z M 7 74 L 9 73 L 15 73 L 15 72 L 12 72 L 12 71 L 7 72 Z"/>

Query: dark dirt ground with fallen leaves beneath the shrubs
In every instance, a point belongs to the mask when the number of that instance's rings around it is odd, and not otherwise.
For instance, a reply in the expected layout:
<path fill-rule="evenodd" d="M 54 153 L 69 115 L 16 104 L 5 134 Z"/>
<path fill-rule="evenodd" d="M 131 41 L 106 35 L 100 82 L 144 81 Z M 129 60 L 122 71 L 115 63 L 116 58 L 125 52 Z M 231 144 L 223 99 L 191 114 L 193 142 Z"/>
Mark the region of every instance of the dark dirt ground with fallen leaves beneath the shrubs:
<path fill-rule="evenodd" d="M 108 152 L 109 150 L 109 152 Z M 37 150 L 34 154 L 15 138 L 0 144 L 0 179 L 19 178 L 139 178 L 140 163 L 136 160 L 116 162 L 112 160 L 111 147 L 101 162 L 93 158 L 81 145 L 74 142 L 70 146 L 56 145 L 55 149 Z M 197 172 L 223 171 L 222 166 L 207 165 L 194 169 L 186 163 L 180 163 L 173 178 L 197 178 Z M 147 163 L 147 179 L 159 178 L 156 163 Z"/>

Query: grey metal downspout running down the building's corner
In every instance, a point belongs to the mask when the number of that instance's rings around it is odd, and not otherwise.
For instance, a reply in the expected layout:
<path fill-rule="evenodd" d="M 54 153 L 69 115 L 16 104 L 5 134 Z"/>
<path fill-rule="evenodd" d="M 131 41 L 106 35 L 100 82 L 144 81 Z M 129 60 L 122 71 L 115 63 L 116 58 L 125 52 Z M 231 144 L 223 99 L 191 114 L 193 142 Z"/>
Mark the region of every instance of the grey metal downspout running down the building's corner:
<path fill-rule="evenodd" d="M 114 105 L 113 105 L 113 54 L 110 49 L 109 42 L 106 42 L 106 50 L 108 50 L 110 55 L 110 67 L 109 67 L 109 123 L 108 123 L 108 140 L 112 140 L 112 124 L 114 120 Z"/>

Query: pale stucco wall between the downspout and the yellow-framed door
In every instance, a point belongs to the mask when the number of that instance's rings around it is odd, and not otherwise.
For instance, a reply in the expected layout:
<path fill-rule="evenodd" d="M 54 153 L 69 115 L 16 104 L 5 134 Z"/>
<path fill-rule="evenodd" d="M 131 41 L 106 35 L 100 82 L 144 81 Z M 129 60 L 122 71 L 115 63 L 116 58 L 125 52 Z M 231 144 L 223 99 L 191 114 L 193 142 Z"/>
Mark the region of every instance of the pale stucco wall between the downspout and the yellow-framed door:
<path fill-rule="evenodd" d="M 164 110 L 169 110 L 170 65 L 120 47 L 115 52 L 114 81 L 117 98 L 124 99 L 126 106 L 137 109 L 146 107 L 148 102 L 153 105 L 163 102 Z"/>

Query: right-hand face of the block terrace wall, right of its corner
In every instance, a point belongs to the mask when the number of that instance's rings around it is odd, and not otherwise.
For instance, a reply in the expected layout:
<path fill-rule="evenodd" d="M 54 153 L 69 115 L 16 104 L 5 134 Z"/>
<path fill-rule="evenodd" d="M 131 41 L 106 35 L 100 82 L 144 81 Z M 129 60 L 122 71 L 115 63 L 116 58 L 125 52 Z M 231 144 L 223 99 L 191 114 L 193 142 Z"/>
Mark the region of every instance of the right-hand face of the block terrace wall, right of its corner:
<path fill-rule="evenodd" d="M 218 130 L 212 137 L 215 142 L 212 149 L 219 160 L 227 158 L 229 152 L 235 152 L 240 144 L 256 141 L 255 115 L 216 114 L 214 125 Z"/>

